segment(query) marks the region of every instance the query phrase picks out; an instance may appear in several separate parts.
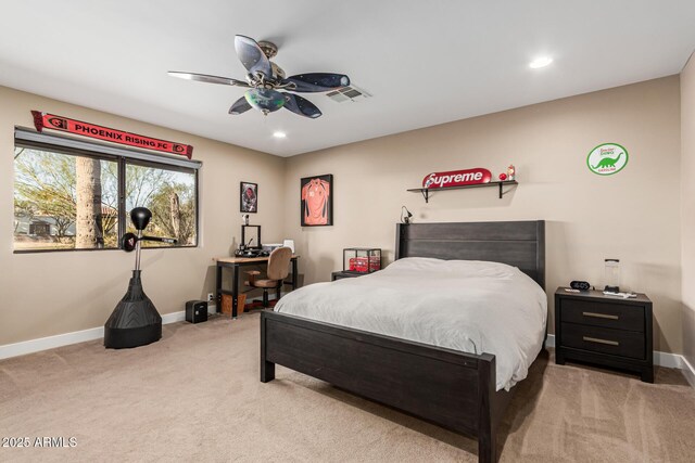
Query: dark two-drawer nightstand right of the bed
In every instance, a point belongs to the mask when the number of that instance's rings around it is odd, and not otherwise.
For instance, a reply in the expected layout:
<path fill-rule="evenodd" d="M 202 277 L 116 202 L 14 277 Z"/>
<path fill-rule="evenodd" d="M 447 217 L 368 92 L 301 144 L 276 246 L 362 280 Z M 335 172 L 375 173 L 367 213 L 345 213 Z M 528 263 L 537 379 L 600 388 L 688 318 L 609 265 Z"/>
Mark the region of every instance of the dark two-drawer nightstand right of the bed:
<path fill-rule="evenodd" d="M 652 300 L 599 291 L 555 292 L 555 362 L 579 360 L 637 372 L 654 383 Z"/>

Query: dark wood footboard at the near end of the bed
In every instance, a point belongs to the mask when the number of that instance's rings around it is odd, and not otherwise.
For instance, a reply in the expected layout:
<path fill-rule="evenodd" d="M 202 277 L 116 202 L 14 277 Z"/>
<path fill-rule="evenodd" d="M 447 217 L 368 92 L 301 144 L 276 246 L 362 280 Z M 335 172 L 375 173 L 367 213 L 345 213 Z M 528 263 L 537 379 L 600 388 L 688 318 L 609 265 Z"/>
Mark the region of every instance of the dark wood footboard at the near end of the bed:
<path fill-rule="evenodd" d="M 275 364 L 478 438 L 496 461 L 495 429 L 508 393 L 495 393 L 495 358 L 294 316 L 261 313 L 261 381 Z"/>

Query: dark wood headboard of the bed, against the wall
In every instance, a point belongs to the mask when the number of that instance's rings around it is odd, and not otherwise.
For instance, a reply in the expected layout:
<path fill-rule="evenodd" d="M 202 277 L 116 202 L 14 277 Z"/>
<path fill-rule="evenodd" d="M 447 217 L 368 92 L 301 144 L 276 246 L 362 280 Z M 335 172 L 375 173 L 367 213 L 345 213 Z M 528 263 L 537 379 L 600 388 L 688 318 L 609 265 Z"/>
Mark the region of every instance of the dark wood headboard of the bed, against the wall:
<path fill-rule="evenodd" d="M 395 258 L 403 257 L 507 263 L 545 290 L 545 221 L 399 223 Z"/>

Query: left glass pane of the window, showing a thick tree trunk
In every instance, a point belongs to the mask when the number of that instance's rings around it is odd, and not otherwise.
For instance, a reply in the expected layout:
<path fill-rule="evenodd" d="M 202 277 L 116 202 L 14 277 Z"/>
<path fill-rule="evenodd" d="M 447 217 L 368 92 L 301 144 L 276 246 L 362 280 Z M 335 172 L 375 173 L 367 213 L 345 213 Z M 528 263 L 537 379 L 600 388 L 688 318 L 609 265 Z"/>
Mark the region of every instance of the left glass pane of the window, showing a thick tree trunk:
<path fill-rule="evenodd" d="M 15 147 L 14 248 L 118 247 L 117 172 L 113 160 Z"/>

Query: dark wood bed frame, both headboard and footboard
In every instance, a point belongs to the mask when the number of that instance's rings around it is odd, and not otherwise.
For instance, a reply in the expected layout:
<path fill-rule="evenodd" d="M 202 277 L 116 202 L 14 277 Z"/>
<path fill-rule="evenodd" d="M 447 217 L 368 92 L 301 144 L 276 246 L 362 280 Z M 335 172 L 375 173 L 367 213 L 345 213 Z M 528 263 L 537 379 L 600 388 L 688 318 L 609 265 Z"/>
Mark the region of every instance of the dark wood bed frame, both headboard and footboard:
<path fill-rule="evenodd" d="M 518 267 L 545 287 L 544 221 L 396 226 L 395 258 L 489 260 Z M 496 429 L 511 391 L 495 390 L 495 356 L 261 313 L 261 381 L 275 364 L 478 439 L 478 460 L 497 459 Z"/>

